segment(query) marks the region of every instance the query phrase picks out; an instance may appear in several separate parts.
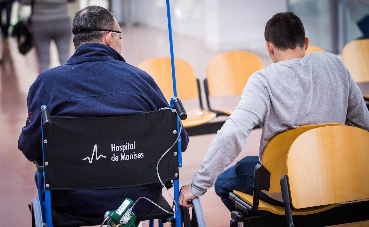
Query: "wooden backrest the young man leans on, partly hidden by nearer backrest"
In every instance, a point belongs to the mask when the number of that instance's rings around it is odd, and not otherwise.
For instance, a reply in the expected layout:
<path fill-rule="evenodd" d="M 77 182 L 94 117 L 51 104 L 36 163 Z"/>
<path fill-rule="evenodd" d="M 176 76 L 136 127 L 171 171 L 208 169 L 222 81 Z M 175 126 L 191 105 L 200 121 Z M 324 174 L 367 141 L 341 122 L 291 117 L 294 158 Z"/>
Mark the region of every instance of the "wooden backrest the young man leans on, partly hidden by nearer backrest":
<path fill-rule="evenodd" d="M 288 150 L 293 141 L 304 132 L 313 128 L 325 127 L 330 125 L 343 125 L 340 123 L 323 123 L 301 125 L 297 128 L 290 129 L 275 135 L 265 146 L 261 164 L 270 172 L 270 188 L 269 191 L 281 193 L 280 178 L 287 175 L 286 160 Z"/>

